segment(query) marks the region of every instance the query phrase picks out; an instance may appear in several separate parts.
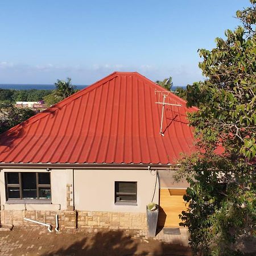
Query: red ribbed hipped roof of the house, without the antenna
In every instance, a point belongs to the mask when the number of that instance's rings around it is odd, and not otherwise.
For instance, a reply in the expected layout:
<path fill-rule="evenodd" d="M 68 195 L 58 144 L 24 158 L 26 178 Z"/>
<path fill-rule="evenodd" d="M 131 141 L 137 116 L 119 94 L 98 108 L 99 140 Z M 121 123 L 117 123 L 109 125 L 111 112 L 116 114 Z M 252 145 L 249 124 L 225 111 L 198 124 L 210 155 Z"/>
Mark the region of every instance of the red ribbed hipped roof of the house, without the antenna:
<path fill-rule="evenodd" d="M 173 93 L 159 134 L 161 86 L 114 72 L 0 136 L 2 163 L 175 163 L 193 150 L 186 102 Z"/>

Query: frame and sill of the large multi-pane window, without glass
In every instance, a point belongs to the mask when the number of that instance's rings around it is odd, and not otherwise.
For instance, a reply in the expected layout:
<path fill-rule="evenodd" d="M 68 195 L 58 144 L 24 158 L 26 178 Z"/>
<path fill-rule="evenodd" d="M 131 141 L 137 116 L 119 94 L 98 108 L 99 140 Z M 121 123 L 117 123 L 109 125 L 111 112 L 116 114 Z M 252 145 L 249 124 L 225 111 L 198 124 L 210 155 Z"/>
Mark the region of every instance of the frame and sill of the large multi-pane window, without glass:
<path fill-rule="evenodd" d="M 23 199 L 22 191 L 22 174 L 33 173 L 36 174 L 36 199 Z M 49 174 L 49 184 L 39 184 L 39 174 Z M 12 184 L 8 181 L 8 174 L 18 174 L 19 184 Z M 19 198 L 9 198 L 8 188 L 19 188 Z M 39 198 L 39 188 L 49 188 L 51 197 L 49 199 Z M 52 189 L 51 189 L 51 173 L 50 172 L 5 172 L 5 195 L 7 204 L 51 204 L 52 201 Z"/>

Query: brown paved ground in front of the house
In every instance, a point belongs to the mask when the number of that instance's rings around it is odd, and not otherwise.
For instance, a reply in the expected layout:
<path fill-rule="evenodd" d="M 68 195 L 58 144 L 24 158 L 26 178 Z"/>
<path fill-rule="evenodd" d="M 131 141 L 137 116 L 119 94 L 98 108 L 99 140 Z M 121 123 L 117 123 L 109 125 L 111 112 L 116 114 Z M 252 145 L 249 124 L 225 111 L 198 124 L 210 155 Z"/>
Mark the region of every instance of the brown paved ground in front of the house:
<path fill-rule="evenodd" d="M 47 228 L 18 228 L 0 232 L 0 255 L 191 255 L 187 230 L 181 235 L 148 238 L 140 230 L 65 230 L 47 232 Z"/>

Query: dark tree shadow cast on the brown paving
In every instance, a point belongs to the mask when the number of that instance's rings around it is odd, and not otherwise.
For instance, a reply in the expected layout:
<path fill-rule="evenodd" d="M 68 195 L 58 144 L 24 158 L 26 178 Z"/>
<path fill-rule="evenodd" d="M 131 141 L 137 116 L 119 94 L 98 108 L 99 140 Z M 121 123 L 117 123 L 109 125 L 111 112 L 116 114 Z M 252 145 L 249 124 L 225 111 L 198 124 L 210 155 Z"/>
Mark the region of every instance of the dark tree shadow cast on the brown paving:
<path fill-rule="evenodd" d="M 85 236 L 76 239 L 71 234 L 68 236 L 67 241 L 62 240 L 63 246 L 59 246 L 59 249 L 49 250 L 43 255 L 191 255 L 188 247 L 179 245 L 180 241 L 162 243 L 151 239 L 148 240 L 149 242 L 146 242 L 143 238 L 131 238 L 129 234 L 121 230 L 101 231 L 94 234 L 86 234 Z"/>

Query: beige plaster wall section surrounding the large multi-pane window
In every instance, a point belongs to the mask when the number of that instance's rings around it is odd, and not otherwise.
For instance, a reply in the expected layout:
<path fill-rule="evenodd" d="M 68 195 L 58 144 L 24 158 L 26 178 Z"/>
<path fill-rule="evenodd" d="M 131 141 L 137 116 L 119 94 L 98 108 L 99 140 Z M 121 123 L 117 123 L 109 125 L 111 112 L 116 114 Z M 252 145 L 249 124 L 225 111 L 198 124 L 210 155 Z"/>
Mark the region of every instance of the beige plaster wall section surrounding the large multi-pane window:
<path fill-rule="evenodd" d="M 51 171 L 52 204 L 6 204 L 5 172 L 46 172 L 46 169 L 2 169 L 0 172 L 1 209 L 5 210 L 65 210 L 67 209 L 67 184 L 73 183 L 73 170 Z M 71 202 L 73 204 L 73 201 Z"/>

